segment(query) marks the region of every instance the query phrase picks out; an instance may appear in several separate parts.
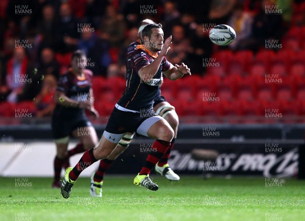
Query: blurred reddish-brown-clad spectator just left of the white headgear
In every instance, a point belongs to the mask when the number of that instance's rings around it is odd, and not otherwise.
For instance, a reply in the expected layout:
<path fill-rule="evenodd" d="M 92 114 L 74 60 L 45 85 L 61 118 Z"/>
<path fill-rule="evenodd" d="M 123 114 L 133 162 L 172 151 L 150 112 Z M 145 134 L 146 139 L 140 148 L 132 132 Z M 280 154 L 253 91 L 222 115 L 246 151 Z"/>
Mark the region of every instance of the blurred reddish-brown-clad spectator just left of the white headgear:
<path fill-rule="evenodd" d="M 106 8 L 100 31 L 100 37 L 108 41 L 110 47 L 119 48 L 122 46 L 125 40 L 126 24 L 123 15 L 118 14 L 112 5 L 108 5 Z"/>

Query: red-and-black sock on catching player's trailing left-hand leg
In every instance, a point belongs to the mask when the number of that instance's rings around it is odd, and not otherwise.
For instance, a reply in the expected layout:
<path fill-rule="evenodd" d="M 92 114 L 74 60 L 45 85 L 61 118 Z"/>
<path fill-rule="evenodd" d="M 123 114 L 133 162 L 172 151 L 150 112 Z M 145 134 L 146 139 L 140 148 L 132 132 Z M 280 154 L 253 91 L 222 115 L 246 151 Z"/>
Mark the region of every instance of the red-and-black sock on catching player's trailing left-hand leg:
<path fill-rule="evenodd" d="M 75 165 L 73 170 L 69 173 L 70 179 L 76 181 L 80 173 L 91 166 L 93 163 L 97 162 L 97 159 L 93 155 L 93 149 L 87 150 L 79 160 L 79 162 Z"/>

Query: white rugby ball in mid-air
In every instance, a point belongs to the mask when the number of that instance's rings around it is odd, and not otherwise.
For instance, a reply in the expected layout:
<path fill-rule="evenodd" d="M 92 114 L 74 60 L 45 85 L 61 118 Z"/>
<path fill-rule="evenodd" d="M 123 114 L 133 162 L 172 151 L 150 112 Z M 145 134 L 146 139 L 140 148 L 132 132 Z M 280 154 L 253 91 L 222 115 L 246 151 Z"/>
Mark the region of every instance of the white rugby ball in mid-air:
<path fill-rule="evenodd" d="M 236 33 L 231 26 L 226 24 L 219 24 L 209 31 L 208 37 L 212 43 L 220 46 L 226 46 L 235 40 Z"/>

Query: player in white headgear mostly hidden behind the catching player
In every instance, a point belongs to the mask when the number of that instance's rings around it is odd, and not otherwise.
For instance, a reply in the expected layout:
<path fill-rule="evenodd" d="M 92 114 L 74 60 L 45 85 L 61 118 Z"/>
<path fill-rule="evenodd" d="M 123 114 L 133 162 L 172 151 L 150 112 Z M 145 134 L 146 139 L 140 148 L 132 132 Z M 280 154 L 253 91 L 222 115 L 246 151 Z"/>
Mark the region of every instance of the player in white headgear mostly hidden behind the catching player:
<path fill-rule="evenodd" d="M 142 31 L 144 27 L 148 24 L 154 23 L 155 22 L 150 19 L 144 19 L 140 22 L 138 30 L 139 39 L 136 42 L 132 42 L 127 48 L 127 70 L 132 69 L 132 54 L 137 50 L 137 46 L 140 47 L 139 45 L 143 45 L 144 43 L 142 37 Z M 161 79 L 163 80 L 163 77 L 161 77 Z M 155 170 L 160 175 L 165 176 L 168 180 L 177 181 L 180 179 L 180 177 L 176 173 L 174 173 L 174 171 L 172 171 L 172 169 L 169 167 L 168 159 L 170 156 L 170 151 L 173 148 L 175 138 L 177 137 L 179 119 L 178 115 L 175 112 L 175 108 L 171 106 L 168 102 L 166 102 L 165 98 L 161 95 L 160 87 L 154 99 L 154 111 L 156 112 L 156 114 L 159 114 L 170 124 L 171 128 L 174 130 L 175 133 L 174 138 L 171 141 L 170 147 L 167 149 L 162 159 L 156 165 Z M 100 165 L 97 172 L 94 173 L 91 177 L 90 194 L 93 197 L 102 197 L 103 178 L 106 170 L 111 166 L 112 162 L 127 149 L 133 137 L 134 134 L 127 133 L 120 140 L 113 152 L 106 159 L 100 161 Z"/>

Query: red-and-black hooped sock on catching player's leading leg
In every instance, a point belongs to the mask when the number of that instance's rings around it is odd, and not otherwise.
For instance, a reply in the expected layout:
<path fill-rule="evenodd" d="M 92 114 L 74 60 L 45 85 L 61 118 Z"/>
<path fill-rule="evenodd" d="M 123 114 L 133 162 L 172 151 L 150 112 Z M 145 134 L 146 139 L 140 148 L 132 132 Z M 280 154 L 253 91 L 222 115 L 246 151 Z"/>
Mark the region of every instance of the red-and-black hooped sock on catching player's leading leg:
<path fill-rule="evenodd" d="M 168 147 L 170 146 L 170 142 L 164 140 L 156 140 L 152 149 L 156 149 L 156 152 L 150 153 L 147 156 L 146 162 L 140 171 L 140 175 L 147 175 L 150 173 L 151 169 L 153 169 L 156 164 L 160 161 L 161 157 L 164 155 Z"/>

